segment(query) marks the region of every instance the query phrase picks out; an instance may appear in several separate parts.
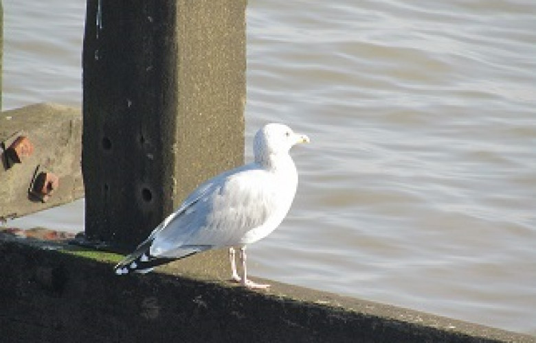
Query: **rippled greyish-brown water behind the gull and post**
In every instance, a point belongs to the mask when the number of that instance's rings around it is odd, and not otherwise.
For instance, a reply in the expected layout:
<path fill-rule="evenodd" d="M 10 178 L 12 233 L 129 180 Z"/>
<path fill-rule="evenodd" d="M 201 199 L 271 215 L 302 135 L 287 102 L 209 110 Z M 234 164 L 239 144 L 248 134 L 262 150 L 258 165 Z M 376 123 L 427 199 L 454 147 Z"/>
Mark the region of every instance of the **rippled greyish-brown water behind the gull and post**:
<path fill-rule="evenodd" d="M 4 1 L 4 108 L 80 106 L 85 4 L 31 2 Z M 248 143 L 266 121 L 312 139 L 254 274 L 536 334 L 536 3 L 250 0 L 247 15 Z"/>

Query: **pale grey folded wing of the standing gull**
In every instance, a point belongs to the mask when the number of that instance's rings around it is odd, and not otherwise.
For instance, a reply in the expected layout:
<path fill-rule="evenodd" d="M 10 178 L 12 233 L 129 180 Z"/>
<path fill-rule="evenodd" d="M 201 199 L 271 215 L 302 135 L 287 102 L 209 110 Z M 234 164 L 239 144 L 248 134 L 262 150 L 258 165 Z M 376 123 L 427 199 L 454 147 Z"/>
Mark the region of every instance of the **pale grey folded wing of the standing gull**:
<path fill-rule="evenodd" d="M 189 206 L 155 233 L 151 255 L 177 257 L 239 244 L 247 231 L 265 224 L 275 213 L 272 178 L 259 169 L 238 170 L 215 178 Z"/>

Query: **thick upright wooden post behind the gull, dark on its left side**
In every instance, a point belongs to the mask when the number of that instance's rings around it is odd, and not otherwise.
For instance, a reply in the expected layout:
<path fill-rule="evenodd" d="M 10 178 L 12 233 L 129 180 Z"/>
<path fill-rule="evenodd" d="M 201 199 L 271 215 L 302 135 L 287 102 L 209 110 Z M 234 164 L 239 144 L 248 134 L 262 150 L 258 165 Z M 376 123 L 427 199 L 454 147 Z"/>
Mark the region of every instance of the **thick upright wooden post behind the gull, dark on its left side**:
<path fill-rule="evenodd" d="M 87 1 L 87 239 L 131 249 L 200 182 L 243 163 L 245 5 Z"/>

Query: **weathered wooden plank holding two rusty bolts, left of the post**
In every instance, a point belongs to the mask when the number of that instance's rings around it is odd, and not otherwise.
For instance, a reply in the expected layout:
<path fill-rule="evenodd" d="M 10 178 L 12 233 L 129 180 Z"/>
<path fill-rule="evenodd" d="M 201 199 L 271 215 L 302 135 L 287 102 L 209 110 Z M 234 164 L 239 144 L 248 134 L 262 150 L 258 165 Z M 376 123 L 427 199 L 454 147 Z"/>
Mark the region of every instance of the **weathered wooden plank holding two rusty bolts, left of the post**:
<path fill-rule="evenodd" d="M 33 144 L 34 152 L 8 168 L 3 151 L 16 132 Z M 0 114 L 0 218 L 21 217 L 81 198 L 82 117 L 80 110 L 57 104 L 36 104 Z M 59 187 L 45 203 L 29 196 L 36 168 L 59 177 Z"/>

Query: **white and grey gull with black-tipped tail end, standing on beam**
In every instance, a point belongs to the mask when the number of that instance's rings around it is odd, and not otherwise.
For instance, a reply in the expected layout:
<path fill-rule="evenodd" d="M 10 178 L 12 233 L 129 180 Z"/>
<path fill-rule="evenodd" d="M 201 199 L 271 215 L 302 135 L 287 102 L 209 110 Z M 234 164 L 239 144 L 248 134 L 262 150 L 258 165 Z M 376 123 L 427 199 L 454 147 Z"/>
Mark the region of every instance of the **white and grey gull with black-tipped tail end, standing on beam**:
<path fill-rule="evenodd" d="M 309 143 L 309 138 L 288 126 L 269 123 L 260 128 L 254 138 L 255 161 L 200 185 L 115 266 L 115 273 L 146 273 L 197 252 L 229 248 L 234 281 L 250 288 L 269 287 L 247 279 L 245 250 L 275 230 L 289 212 L 298 187 L 289 150 L 298 143 Z M 236 249 L 241 275 L 236 270 Z"/>

